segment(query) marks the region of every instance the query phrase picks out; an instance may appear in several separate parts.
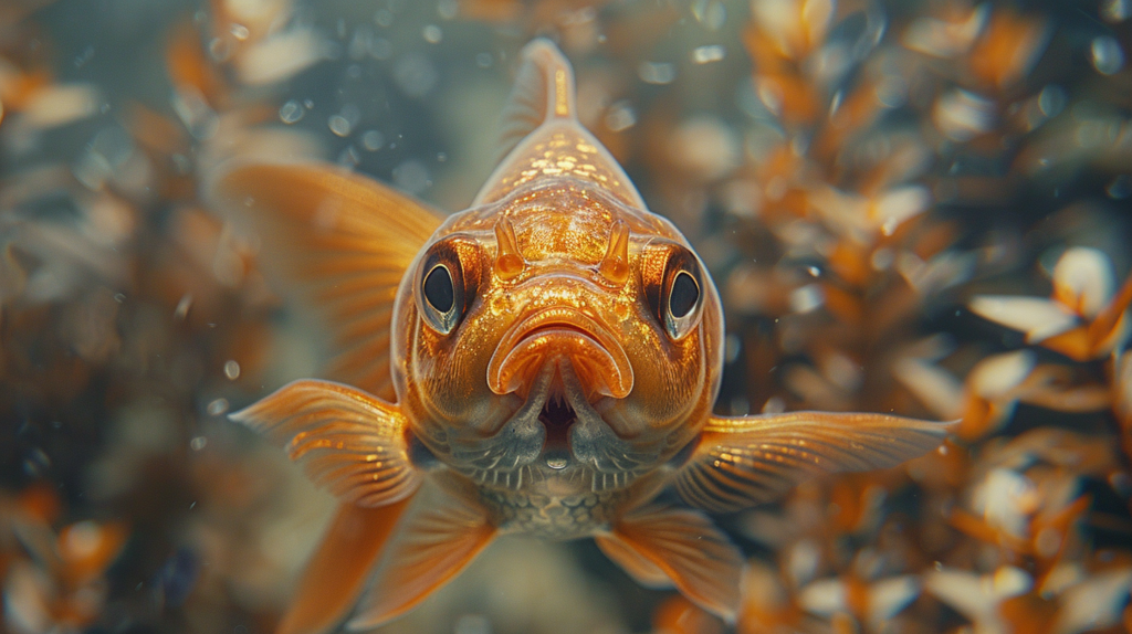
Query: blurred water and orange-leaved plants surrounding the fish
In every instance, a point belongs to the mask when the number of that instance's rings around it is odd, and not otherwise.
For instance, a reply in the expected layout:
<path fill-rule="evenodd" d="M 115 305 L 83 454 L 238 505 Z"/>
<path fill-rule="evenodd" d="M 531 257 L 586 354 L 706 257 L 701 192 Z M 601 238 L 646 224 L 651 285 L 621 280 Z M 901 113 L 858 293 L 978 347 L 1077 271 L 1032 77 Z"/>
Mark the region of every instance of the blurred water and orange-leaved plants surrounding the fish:
<path fill-rule="evenodd" d="M 273 631 L 334 501 L 226 414 L 332 342 L 200 192 L 318 159 L 462 209 L 537 35 L 711 269 L 719 414 L 962 420 L 719 518 L 749 556 L 734 629 L 1129 631 L 1130 15 L 0 0 L 6 631 Z M 730 628 L 589 541 L 513 539 L 383 631 Z"/>

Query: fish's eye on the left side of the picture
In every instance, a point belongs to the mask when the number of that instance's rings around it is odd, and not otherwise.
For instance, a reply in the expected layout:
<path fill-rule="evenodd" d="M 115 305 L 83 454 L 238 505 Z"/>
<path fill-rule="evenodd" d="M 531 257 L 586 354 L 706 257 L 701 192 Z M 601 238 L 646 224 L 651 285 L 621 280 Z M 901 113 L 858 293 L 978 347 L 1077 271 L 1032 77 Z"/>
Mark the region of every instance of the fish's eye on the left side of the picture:
<path fill-rule="evenodd" d="M 469 299 L 475 297 L 479 250 L 458 237 L 434 244 L 417 277 L 417 307 L 424 323 L 440 335 L 456 329 Z"/>

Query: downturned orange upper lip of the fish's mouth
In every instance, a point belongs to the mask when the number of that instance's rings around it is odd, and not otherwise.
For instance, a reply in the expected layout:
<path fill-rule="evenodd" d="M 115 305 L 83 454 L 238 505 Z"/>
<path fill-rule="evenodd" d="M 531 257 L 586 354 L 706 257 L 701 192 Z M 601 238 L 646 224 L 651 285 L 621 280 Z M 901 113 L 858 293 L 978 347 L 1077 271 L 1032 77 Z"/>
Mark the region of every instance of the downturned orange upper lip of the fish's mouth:
<path fill-rule="evenodd" d="M 621 399 L 633 389 L 633 366 L 609 329 L 569 307 L 543 309 L 508 330 L 488 362 L 488 387 L 526 398 L 543 367 L 565 359 L 584 398 Z"/>

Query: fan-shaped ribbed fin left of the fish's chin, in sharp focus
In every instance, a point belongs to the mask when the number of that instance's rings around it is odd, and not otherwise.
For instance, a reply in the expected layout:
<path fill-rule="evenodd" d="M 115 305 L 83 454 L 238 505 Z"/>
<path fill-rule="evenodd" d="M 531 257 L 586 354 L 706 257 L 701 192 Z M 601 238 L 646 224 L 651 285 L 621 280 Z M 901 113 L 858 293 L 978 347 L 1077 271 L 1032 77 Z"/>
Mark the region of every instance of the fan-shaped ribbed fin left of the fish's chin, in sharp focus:
<path fill-rule="evenodd" d="M 315 484 L 360 506 L 404 500 L 420 485 L 396 406 L 348 385 L 295 381 L 231 418 L 267 434 Z"/>

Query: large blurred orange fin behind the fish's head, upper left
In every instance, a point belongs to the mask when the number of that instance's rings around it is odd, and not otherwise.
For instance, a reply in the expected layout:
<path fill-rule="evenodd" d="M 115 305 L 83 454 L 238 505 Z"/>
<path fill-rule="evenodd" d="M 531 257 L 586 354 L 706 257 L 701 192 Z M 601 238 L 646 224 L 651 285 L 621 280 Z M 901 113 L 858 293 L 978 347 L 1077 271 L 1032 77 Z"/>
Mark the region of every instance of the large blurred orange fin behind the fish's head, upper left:
<path fill-rule="evenodd" d="M 340 355 L 331 376 L 393 399 L 389 322 L 409 264 L 440 225 L 422 203 L 329 165 L 250 164 L 214 179 L 209 198 L 249 218 L 260 260 L 321 309 Z M 294 283 L 299 283 L 298 285 Z"/>

